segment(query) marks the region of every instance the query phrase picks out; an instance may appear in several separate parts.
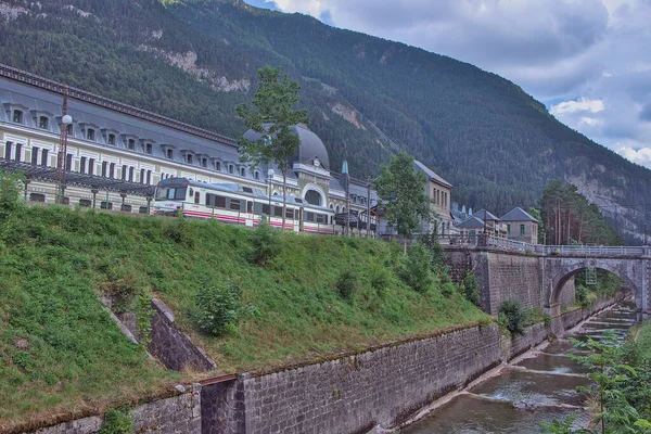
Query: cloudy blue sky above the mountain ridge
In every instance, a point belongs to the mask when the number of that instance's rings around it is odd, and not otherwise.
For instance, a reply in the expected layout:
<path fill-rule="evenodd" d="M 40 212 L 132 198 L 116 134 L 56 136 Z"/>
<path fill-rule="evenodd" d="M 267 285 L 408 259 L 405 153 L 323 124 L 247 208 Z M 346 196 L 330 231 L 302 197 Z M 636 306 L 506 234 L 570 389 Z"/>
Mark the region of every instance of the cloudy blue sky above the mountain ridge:
<path fill-rule="evenodd" d="M 472 63 L 651 168 L 651 0 L 246 0 Z"/>

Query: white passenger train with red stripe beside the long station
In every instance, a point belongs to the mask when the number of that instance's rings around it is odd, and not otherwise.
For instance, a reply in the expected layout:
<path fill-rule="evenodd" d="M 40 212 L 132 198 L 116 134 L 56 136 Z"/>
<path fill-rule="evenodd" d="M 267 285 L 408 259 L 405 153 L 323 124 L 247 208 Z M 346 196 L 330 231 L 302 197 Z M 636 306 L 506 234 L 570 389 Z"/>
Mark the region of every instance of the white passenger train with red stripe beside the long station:
<path fill-rule="evenodd" d="M 334 212 L 288 196 L 285 229 L 314 233 L 335 233 Z M 282 196 L 268 196 L 260 189 L 237 183 L 205 183 L 187 178 L 158 182 L 154 214 L 220 221 L 253 227 L 267 216 L 272 227 L 282 227 Z"/>

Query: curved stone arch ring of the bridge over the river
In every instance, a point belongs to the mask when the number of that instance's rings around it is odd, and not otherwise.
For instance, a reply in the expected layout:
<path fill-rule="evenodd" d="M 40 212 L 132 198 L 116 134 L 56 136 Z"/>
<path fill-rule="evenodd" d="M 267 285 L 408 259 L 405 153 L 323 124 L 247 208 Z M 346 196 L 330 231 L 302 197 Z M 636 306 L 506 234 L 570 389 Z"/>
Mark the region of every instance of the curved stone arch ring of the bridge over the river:
<path fill-rule="evenodd" d="M 595 260 L 595 259 L 583 259 L 573 261 L 571 264 L 563 265 L 551 278 L 551 288 L 549 296 L 547 297 L 548 306 L 559 304 L 559 297 L 565 283 L 585 270 L 589 266 L 593 266 L 597 269 L 605 270 L 617 276 L 624 282 L 624 288 L 628 289 L 636 295 L 636 299 L 639 297 L 640 292 L 637 283 L 635 282 L 636 277 L 633 276 L 634 271 L 627 269 L 626 264 L 622 260 Z"/>

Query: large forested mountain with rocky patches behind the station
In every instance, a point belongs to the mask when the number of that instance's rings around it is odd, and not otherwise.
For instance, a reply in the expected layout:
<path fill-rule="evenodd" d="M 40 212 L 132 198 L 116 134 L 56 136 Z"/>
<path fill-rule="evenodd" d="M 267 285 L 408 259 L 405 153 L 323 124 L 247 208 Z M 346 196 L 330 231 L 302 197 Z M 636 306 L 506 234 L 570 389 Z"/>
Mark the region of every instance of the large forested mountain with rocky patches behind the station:
<path fill-rule="evenodd" d="M 576 184 L 628 242 L 647 220 L 651 171 L 567 128 L 495 74 L 301 15 L 233 0 L 0 0 L 3 63 L 237 137 L 256 71 L 303 87 L 333 164 L 366 178 L 406 150 L 502 214 L 551 179 Z"/>

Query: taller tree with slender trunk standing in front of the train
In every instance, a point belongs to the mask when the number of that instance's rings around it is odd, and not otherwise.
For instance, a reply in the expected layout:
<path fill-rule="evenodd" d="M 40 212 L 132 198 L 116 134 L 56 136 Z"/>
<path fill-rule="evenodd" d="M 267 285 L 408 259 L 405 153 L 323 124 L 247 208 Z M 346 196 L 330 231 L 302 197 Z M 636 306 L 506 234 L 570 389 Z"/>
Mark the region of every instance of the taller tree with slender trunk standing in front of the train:
<path fill-rule="evenodd" d="M 239 139 L 240 161 L 252 166 L 273 162 L 282 173 L 282 231 L 284 232 L 288 170 L 301 144 L 292 127 L 296 124 L 309 123 L 309 117 L 307 110 L 293 108 L 299 100 L 298 81 L 291 80 L 288 74 L 281 74 L 280 67 L 269 65 L 259 68 L 258 75 L 260 82 L 253 95 L 252 104 L 240 104 L 235 107 L 244 125 L 260 135 L 260 138 L 255 141 L 244 137 Z"/>

